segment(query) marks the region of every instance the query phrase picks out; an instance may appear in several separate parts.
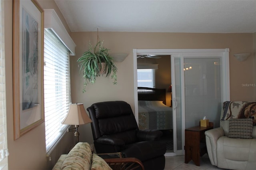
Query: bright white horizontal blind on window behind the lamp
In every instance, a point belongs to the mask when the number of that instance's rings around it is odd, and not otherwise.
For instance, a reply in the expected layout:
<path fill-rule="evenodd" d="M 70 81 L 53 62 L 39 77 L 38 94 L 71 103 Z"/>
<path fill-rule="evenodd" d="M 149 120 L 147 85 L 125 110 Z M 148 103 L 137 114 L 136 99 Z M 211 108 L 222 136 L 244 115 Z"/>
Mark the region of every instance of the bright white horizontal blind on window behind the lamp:
<path fill-rule="evenodd" d="M 62 125 L 70 105 L 69 51 L 50 30 L 44 31 L 44 114 L 46 152 L 64 134 Z"/>

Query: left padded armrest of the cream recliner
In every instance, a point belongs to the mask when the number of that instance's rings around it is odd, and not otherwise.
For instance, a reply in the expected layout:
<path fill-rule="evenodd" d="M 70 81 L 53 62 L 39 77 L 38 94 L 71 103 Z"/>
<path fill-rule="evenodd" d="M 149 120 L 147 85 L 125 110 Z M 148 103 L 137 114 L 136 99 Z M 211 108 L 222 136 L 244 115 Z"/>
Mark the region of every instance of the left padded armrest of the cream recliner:
<path fill-rule="evenodd" d="M 204 132 L 206 138 L 206 147 L 208 156 L 210 158 L 211 164 L 217 166 L 217 140 L 221 136 L 224 136 L 224 130 L 221 127 L 207 130 Z"/>

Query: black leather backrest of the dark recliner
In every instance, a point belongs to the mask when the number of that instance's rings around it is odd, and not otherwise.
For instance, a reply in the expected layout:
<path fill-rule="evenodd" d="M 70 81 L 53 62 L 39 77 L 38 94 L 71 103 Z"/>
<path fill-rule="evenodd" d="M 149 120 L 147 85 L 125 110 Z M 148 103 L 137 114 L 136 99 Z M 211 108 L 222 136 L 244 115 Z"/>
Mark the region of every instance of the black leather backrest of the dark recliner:
<path fill-rule="evenodd" d="M 132 108 L 124 101 L 94 103 L 88 107 L 92 119 L 94 140 L 100 136 L 114 136 L 126 144 L 136 142 L 136 123 Z"/>

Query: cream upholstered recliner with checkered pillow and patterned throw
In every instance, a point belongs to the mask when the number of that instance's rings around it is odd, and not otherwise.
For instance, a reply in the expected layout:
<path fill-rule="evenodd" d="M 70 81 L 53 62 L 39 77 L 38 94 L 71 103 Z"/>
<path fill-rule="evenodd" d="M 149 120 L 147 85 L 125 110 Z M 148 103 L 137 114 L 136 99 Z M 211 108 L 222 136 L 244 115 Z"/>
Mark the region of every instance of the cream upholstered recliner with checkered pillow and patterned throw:
<path fill-rule="evenodd" d="M 256 102 L 224 102 L 220 127 L 205 132 L 211 164 L 231 170 L 255 170 L 255 123 Z"/>

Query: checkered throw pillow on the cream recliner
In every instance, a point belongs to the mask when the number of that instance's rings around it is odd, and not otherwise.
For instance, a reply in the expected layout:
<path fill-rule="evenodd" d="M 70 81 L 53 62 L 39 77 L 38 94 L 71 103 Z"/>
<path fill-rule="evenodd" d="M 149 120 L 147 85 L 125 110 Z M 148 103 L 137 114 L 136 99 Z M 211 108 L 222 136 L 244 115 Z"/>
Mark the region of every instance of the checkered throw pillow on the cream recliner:
<path fill-rule="evenodd" d="M 252 129 L 252 119 L 230 119 L 228 137 L 251 139 Z"/>

